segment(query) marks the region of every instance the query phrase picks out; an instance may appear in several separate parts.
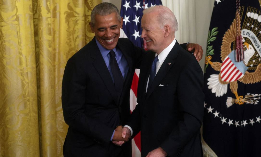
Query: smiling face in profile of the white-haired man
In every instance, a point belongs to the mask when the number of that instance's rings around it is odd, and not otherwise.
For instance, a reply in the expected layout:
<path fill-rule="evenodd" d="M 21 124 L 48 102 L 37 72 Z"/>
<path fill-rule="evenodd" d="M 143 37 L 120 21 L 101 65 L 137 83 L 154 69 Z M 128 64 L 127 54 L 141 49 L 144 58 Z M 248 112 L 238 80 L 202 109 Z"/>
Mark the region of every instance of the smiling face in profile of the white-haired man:
<path fill-rule="evenodd" d="M 141 19 L 141 37 L 147 42 L 147 48 L 159 54 L 165 49 L 164 29 L 157 20 L 157 13 L 144 14 Z"/>

